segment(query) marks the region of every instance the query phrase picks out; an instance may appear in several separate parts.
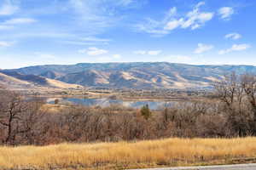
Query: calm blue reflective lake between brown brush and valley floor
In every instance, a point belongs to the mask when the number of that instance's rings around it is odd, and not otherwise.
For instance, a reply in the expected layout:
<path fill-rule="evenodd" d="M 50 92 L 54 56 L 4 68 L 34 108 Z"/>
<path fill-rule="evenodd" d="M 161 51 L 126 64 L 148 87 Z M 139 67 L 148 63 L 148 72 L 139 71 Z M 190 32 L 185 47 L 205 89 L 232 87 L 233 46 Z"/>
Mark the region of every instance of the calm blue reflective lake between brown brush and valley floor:
<path fill-rule="evenodd" d="M 59 99 L 61 104 L 77 104 L 77 105 L 99 105 L 101 107 L 107 107 L 109 105 L 124 105 L 126 107 L 141 108 L 143 105 L 148 105 L 150 109 L 157 110 L 162 107 L 170 107 L 176 104 L 176 101 L 123 101 L 119 99 L 73 99 L 73 98 L 61 98 Z M 48 103 L 53 104 L 55 99 L 48 99 Z"/>

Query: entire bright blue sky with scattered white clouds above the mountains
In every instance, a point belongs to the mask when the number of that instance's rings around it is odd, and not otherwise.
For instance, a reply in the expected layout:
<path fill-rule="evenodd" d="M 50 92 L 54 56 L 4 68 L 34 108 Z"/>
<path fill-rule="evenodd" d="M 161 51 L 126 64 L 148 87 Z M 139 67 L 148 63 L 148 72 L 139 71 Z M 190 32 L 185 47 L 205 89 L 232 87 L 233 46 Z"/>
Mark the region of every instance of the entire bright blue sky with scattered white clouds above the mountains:
<path fill-rule="evenodd" d="M 256 65 L 255 0 L 0 0 L 0 68 Z"/>

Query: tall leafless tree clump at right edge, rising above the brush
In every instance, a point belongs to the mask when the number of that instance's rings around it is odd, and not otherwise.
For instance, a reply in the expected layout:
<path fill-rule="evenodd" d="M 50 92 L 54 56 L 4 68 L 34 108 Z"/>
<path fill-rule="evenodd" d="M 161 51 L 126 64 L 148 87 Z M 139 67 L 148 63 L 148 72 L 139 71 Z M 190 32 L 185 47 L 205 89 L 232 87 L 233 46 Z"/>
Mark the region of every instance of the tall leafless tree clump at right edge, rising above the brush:
<path fill-rule="evenodd" d="M 218 98 L 225 104 L 225 115 L 231 127 L 243 136 L 256 133 L 256 77 L 253 74 L 232 73 L 215 83 Z"/>

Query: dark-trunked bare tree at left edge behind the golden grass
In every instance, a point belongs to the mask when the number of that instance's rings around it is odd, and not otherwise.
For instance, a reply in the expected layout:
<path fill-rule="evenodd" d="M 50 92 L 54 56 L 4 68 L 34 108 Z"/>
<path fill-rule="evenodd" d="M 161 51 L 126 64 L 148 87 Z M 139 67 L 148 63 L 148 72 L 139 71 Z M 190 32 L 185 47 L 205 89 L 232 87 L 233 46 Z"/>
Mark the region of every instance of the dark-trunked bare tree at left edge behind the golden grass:
<path fill-rule="evenodd" d="M 2 143 L 15 144 L 19 135 L 32 131 L 40 105 L 14 92 L 4 92 L 0 101 L 0 126 L 5 129 Z"/>

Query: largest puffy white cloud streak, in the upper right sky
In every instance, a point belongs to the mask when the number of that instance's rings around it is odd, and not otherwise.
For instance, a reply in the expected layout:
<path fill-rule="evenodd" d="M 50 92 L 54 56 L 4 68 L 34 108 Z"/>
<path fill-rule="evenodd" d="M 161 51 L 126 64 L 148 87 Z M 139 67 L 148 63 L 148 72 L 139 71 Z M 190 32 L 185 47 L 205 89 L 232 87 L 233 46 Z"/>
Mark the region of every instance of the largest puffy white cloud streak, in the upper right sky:
<path fill-rule="evenodd" d="M 177 17 L 177 8 L 173 7 L 163 20 L 147 19 L 146 23 L 137 25 L 137 29 L 159 36 L 169 34 L 170 31 L 177 28 L 195 30 L 204 26 L 214 16 L 212 12 L 201 12 L 200 8 L 204 4 L 204 2 L 197 3 L 193 10 L 182 17 Z"/>

